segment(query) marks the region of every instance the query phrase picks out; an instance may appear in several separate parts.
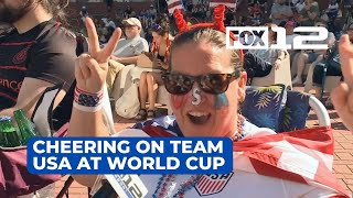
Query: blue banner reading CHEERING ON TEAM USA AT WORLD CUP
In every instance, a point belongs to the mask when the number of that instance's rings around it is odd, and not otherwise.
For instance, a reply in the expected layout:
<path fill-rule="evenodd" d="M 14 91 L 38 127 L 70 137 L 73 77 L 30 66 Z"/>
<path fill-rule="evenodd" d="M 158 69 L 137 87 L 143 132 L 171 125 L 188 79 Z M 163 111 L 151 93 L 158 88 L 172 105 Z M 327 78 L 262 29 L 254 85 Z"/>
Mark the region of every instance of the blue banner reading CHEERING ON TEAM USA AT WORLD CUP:
<path fill-rule="evenodd" d="M 34 138 L 32 174 L 228 174 L 228 138 Z"/>

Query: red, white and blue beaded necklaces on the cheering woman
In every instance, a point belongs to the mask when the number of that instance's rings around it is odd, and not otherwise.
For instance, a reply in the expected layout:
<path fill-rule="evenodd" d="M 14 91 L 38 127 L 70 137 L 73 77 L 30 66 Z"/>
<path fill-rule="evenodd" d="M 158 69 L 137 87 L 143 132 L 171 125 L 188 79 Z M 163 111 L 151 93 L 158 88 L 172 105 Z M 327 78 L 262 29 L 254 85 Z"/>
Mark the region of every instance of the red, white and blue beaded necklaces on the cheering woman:
<path fill-rule="evenodd" d="M 237 121 L 237 131 L 232 138 L 232 141 L 239 141 L 245 136 L 245 133 L 243 130 L 244 121 L 245 121 L 245 118 L 239 114 L 238 121 Z M 193 188 L 196 185 L 196 183 L 200 180 L 201 176 L 202 175 L 190 176 L 186 182 L 182 183 L 179 186 L 175 195 L 172 196 L 171 193 L 173 191 L 176 185 L 175 175 L 164 174 L 159 178 L 157 183 L 157 188 L 152 195 L 152 198 L 183 198 L 185 191 Z"/>

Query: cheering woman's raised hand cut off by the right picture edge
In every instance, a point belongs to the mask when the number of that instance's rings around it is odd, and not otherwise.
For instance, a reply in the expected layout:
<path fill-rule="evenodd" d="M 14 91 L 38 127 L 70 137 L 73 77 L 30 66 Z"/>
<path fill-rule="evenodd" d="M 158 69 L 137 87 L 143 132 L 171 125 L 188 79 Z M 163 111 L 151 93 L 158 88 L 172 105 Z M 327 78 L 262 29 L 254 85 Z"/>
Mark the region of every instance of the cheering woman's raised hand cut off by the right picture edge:
<path fill-rule="evenodd" d="M 339 47 L 344 82 L 331 92 L 331 98 L 344 125 L 353 132 L 353 45 L 347 35 L 341 37 Z"/>

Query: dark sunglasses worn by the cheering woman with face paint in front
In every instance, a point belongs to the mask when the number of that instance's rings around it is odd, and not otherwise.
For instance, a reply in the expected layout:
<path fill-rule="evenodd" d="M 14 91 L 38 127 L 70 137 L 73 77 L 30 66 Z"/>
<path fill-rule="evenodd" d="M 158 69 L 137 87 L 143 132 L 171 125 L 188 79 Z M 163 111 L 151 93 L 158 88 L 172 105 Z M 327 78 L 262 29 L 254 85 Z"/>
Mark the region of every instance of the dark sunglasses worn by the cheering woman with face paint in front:
<path fill-rule="evenodd" d="M 207 74 L 201 76 L 189 76 L 183 74 L 165 73 L 162 75 L 164 87 L 171 95 L 186 95 L 197 81 L 204 92 L 220 95 L 228 89 L 232 80 L 240 76 L 242 69 L 232 74 Z"/>

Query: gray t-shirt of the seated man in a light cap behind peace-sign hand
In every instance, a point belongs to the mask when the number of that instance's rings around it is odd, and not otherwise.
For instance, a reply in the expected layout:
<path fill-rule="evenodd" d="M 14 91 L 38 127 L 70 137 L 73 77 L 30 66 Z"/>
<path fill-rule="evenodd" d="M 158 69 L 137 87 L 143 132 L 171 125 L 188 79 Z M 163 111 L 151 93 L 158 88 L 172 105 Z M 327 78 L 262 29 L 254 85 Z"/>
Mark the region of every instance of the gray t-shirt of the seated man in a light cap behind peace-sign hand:
<path fill-rule="evenodd" d="M 131 57 L 142 54 L 142 52 L 149 52 L 148 43 L 143 37 L 137 36 L 132 40 L 121 38 L 114 55 L 118 57 Z"/>

